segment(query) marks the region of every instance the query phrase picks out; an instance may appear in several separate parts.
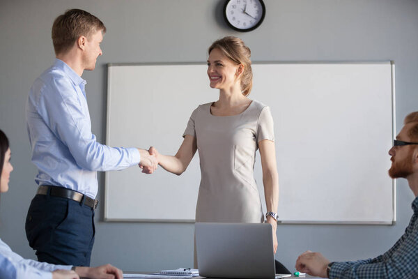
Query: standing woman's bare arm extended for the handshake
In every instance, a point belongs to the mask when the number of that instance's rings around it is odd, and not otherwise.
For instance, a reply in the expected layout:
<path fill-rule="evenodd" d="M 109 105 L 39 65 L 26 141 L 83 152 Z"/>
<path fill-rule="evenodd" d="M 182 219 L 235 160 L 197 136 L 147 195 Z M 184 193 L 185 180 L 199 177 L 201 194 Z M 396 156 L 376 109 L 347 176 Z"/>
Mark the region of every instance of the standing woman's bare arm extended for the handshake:
<path fill-rule="evenodd" d="M 175 156 L 162 155 L 153 146 L 150 147 L 150 154 L 155 155 L 159 165 L 167 172 L 180 175 L 189 166 L 196 150 L 196 137 L 186 135 Z"/>

